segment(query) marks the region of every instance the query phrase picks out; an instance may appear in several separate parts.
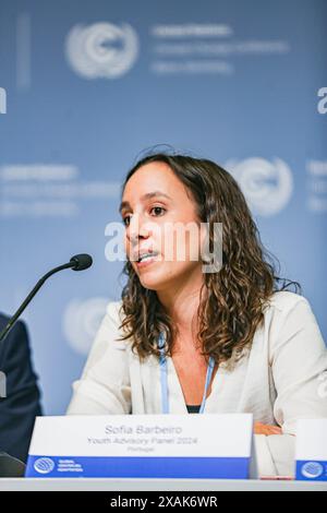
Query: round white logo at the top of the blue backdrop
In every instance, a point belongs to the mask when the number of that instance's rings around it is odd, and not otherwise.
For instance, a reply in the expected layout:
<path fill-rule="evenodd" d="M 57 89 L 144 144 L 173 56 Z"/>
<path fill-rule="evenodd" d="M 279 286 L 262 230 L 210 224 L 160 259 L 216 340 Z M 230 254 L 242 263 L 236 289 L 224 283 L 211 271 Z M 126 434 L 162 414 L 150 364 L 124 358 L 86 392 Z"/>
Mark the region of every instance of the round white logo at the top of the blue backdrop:
<path fill-rule="evenodd" d="M 126 23 L 75 25 L 68 35 L 65 52 L 73 70 L 84 79 L 117 79 L 136 61 L 138 37 Z"/>

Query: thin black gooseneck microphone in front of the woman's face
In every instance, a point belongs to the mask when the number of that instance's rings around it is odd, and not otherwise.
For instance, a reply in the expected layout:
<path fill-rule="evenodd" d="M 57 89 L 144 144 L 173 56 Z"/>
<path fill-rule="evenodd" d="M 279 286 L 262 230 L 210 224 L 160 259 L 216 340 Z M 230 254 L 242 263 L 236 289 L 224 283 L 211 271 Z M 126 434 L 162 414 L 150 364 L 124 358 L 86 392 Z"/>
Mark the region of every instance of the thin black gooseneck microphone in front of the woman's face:
<path fill-rule="evenodd" d="M 9 332 L 12 330 L 12 327 L 15 325 L 15 323 L 17 322 L 19 318 L 22 315 L 23 311 L 25 310 L 25 308 L 27 307 L 27 305 L 32 301 L 32 299 L 34 298 L 34 296 L 36 295 L 36 293 L 41 288 L 41 286 L 44 285 L 44 283 L 50 277 L 52 276 L 52 274 L 56 274 L 58 273 L 59 271 L 63 271 L 64 269 L 71 269 L 72 271 L 84 271 L 88 267 L 90 267 L 93 264 L 93 260 L 92 260 L 92 256 L 89 254 L 86 254 L 86 253 L 82 253 L 82 254 L 75 254 L 75 256 L 72 256 L 71 260 L 66 263 L 66 264 L 63 264 L 63 265 L 60 265 L 59 267 L 55 267 L 52 269 L 51 271 L 49 271 L 47 274 L 45 274 L 45 276 L 43 276 L 36 284 L 36 286 L 34 287 L 34 289 L 28 294 L 28 296 L 26 297 L 26 299 L 24 300 L 24 302 L 20 306 L 19 310 L 13 314 L 13 317 L 10 319 L 10 321 L 8 322 L 7 326 L 4 327 L 4 330 L 2 330 L 2 332 L 0 333 L 0 344 L 2 341 L 4 341 L 4 338 L 7 337 L 7 335 L 9 334 Z"/>

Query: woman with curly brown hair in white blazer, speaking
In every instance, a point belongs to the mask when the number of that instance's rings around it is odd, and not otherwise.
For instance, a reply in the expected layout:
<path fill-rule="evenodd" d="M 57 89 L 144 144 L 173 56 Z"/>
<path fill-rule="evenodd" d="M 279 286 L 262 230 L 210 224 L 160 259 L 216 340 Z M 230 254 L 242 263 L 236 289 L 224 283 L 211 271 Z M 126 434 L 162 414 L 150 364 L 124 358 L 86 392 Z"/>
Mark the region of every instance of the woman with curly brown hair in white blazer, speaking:
<path fill-rule="evenodd" d="M 121 200 L 126 284 L 68 413 L 252 413 L 261 474 L 290 474 L 296 419 L 327 417 L 327 351 L 238 183 L 210 160 L 155 154 L 130 170 Z M 217 226 L 221 259 L 208 265 Z"/>

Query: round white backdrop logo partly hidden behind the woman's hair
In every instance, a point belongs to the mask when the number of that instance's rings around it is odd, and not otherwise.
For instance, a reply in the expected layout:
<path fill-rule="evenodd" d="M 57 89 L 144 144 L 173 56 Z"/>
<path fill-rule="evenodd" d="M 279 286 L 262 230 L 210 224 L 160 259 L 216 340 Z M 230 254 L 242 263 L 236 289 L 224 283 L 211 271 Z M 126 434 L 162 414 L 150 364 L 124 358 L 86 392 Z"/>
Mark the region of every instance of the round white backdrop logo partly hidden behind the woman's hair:
<path fill-rule="evenodd" d="M 293 192 L 293 177 L 280 158 L 272 162 L 259 157 L 229 160 L 226 167 L 231 169 L 249 206 L 257 214 L 271 216 L 288 204 Z"/>

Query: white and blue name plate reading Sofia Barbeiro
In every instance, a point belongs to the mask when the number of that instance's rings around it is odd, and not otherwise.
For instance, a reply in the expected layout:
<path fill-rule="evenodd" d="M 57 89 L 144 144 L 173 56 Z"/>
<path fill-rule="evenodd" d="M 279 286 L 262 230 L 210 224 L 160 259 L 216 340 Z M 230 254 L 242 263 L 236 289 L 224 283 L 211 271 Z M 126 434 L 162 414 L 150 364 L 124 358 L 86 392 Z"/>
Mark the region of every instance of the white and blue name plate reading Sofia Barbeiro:
<path fill-rule="evenodd" d="M 37 417 L 26 477 L 246 479 L 251 414 Z"/>

